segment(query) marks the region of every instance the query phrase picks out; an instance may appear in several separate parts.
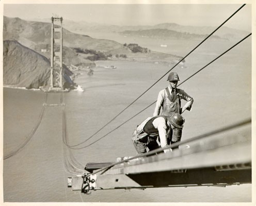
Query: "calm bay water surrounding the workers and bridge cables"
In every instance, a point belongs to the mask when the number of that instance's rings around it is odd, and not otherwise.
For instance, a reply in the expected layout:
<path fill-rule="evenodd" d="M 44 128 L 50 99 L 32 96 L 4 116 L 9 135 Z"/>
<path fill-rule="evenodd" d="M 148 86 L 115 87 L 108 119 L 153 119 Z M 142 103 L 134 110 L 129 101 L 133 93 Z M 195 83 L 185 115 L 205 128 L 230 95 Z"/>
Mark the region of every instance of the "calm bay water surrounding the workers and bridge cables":
<path fill-rule="evenodd" d="M 183 114 L 186 122 L 182 140 L 251 117 L 250 43 L 249 39 L 245 40 L 179 86 L 194 98 L 192 110 Z M 193 45 L 192 42 L 190 47 Z M 182 82 L 230 45 L 232 42 L 210 42 L 186 58 L 184 65 L 175 67 L 173 72 L 179 74 Z M 179 55 L 185 54 L 180 52 Z M 67 177 L 72 174 L 65 168 L 63 157 L 66 146 L 62 141 L 62 110 L 66 112 L 68 143 L 78 144 L 75 148 L 79 149 L 71 149 L 75 160 L 84 166 L 88 162 L 114 162 L 117 157 L 136 155 L 132 132 L 137 124 L 153 115 L 154 105 L 116 128 L 154 102 L 158 92 L 168 85 L 167 77 L 161 79 L 93 135 L 170 70 L 166 65 L 143 62 L 96 63 L 92 76 L 88 76 L 87 71 L 76 71 L 80 75 L 75 82 L 84 88 L 84 92 L 63 93 L 65 106 L 45 107 L 42 120 L 28 143 L 4 160 L 5 202 L 251 202 L 251 184 L 148 188 L 144 191 L 104 190 L 92 191 L 90 195 L 71 191 L 67 187 Z M 104 68 L 111 65 L 116 68 Z M 48 95 L 51 104 L 59 104 L 60 93 Z M 41 91 L 4 88 L 4 155 L 29 137 L 38 122 L 44 98 L 45 93 Z M 102 138 L 111 130 L 114 131 Z"/>

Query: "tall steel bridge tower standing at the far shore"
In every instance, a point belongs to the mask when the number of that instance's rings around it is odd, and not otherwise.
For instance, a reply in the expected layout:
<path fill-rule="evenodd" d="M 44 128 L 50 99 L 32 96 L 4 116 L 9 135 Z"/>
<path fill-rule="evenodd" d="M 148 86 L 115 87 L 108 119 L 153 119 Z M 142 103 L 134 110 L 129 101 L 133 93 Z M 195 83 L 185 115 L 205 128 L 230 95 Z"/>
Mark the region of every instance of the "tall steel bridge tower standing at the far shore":
<path fill-rule="evenodd" d="M 62 17 L 52 17 L 50 91 L 63 91 Z"/>

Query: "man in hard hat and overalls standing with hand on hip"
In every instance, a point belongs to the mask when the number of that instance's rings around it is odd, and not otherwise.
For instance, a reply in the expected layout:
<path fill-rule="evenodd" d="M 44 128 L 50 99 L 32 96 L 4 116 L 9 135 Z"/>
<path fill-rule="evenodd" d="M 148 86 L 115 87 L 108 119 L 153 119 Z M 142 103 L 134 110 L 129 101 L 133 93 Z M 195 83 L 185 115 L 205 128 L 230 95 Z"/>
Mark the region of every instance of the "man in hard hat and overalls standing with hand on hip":
<path fill-rule="evenodd" d="M 186 92 L 176 88 L 180 81 L 178 74 L 171 72 L 167 81 L 169 81 L 168 87 L 158 94 L 153 116 L 159 115 L 161 108 L 163 109 L 161 115 L 164 116 L 171 116 L 174 113 L 182 114 L 185 110 L 190 111 L 194 100 Z M 181 99 L 187 101 L 183 108 L 181 108 Z"/>

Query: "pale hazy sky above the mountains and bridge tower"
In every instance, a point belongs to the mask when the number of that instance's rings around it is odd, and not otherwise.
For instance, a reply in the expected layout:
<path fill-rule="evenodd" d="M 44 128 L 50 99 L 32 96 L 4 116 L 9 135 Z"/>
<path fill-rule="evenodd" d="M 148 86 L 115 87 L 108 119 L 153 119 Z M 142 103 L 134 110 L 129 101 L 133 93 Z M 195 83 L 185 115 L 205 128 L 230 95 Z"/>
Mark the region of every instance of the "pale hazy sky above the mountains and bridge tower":
<path fill-rule="evenodd" d="M 49 18 L 50 22 L 51 16 L 62 16 L 63 20 L 126 26 L 177 23 L 186 26 L 217 27 L 243 5 L 241 2 L 237 4 L 162 4 L 163 1 L 160 1 L 161 4 L 69 4 L 72 1 L 65 1 L 68 4 L 17 4 L 23 1 L 16 1 L 16 4 L 8 4 L 9 2 L 12 1 L 4 3 L 4 15 L 8 17 L 19 17 L 24 20 Z M 251 31 L 251 5 L 247 4 L 243 7 L 225 26 Z"/>

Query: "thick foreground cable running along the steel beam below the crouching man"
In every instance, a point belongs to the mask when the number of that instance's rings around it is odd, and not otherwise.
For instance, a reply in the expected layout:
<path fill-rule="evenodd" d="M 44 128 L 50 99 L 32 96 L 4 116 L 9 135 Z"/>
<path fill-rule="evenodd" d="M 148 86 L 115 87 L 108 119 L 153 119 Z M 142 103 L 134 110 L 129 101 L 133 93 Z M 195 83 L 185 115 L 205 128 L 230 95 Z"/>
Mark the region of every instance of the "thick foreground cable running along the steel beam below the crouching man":
<path fill-rule="evenodd" d="M 187 144 L 187 143 L 190 143 L 190 142 L 194 142 L 196 140 L 201 140 L 203 138 L 206 138 L 207 136 L 211 136 L 211 135 L 214 135 L 214 134 L 225 132 L 225 131 L 228 131 L 228 130 L 231 130 L 231 129 L 234 129 L 234 128 L 237 128 L 237 127 L 241 127 L 241 126 L 244 126 L 244 125 L 247 125 L 247 124 L 251 124 L 251 118 L 250 119 L 246 119 L 243 122 L 239 122 L 239 123 L 236 123 L 236 124 L 233 124 L 233 125 L 229 125 L 227 127 L 223 127 L 223 128 L 211 131 L 211 132 L 207 132 L 205 134 L 201 134 L 199 136 L 195 136 L 194 138 L 189 138 L 189 139 L 184 140 L 184 141 L 175 142 L 175 143 L 173 143 L 173 144 L 171 144 L 169 146 L 166 146 L 166 147 L 161 147 L 161 148 L 154 149 L 154 150 L 149 151 L 147 153 L 144 153 L 142 155 L 134 156 L 134 157 L 126 159 L 126 160 L 115 162 L 115 163 L 110 164 L 110 165 L 108 165 L 106 167 L 103 167 L 103 168 L 101 168 L 101 169 L 99 169 L 99 170 L 97 170 L 94 173 L 89 174 L 89 175 L 95 175 L 95 174 L 99 173 L 100 171 L 103 171 L 103 173 L 105 173 L 106 170 L 110 169 L 111 167 L 113 167 L 113 166 L 115 166 L 117 164 L 122 164 L 124 162 L 128 162 L 130 160 L 134 160 L 134 159 L 137 159 L 137 158 L 143 158 L 143 157 L 151 156 L 151 155 L 154 155 L 157 152 L 164 151 L 165 149 L 172 149 L 174 147 L 178 147 L 180 145 L 184 145 L 184 144 Z"/>

